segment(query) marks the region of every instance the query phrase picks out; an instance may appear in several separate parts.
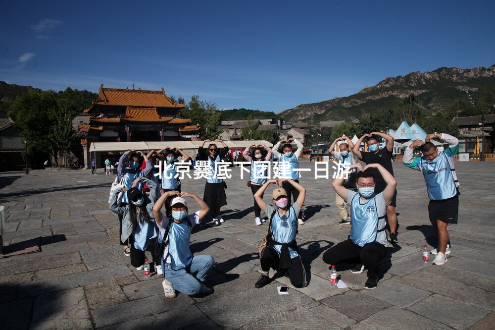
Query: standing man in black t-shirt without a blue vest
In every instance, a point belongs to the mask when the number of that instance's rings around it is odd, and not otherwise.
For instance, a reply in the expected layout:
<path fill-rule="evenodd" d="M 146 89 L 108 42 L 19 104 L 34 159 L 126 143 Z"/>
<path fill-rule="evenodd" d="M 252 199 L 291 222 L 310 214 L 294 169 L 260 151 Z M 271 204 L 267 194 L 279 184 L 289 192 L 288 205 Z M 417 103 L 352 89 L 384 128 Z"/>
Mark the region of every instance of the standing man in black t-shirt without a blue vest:
<path fill-rule="evenodd" d="M 383 138 L 387 143 L 385 144 L 385 148 L 379 149 L 377 136 Z M 359 151 L 359 146 L 363 142 L 364 138 L 368 138 L 368 149 L 369 152 Z M 392 151 L 394 150 L 394 138 L 385 133 L 380 132 L 371 132 L 370 134 L 364 134 L 361 136 L 359 141 L 352 148 L 352 152 L 354 155 L 359 158 L 359 160 L 368 164 L 380 164 L 385 169 L 387 169 L 390 174 L 394 175 L 394 169 L 392 168 Z M 375 177 L 375 194 L 379 194 L 385 190 L 387 183 L 383 178 L 382 174 L 374 169 L 370 168 L 374 177 Z M 397 214 L 396 214 L 396 199 L 397 199 L 397 190 L 387 207 L 387 222 L 389 223 L 390 229 L 390 241 L 392 243 L 397 243 Z"/>

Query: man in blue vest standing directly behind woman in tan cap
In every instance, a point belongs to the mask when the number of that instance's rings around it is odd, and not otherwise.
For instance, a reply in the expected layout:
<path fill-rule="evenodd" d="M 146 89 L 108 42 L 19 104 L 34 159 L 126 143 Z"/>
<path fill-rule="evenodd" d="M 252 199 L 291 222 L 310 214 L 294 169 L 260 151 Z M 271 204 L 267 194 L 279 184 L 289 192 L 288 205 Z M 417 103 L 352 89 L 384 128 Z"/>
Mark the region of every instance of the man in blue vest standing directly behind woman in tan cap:
<path fill-rule="evenodd" d="M 297 146 L 296 151 L 293 151 L 291 142 L 294 142 L 296 144 Z M 283 146 L 282 143 L 284 143 Z M 287 141 L 280 140 L 273 146 L 272 152 L 275 155 L 275 157 L 277 157 L 279 161 L 279 166 L 282 166 L 280 163 L 286 162 L 286 164 L 289 165 L 288 167 L 290 167 L 290 169 L 284 168 L 284 171 L 281 170 L 279 172 L 279 176 L 281 179 L 291 179 L 299 183 L 299 171 L 297 169 L 299 168 L 298 158 L 302 153 L 302 148 L 303 148 L 302 143 L 300 143 L 297 140 L 294 140 L 293 138 L 290 138 Z M 294 202 L 296 202 L 297 197 L 299 196 L 299 192 L 297 191 L 296 188 L 294 188 L 293 185 L 289 184 L 287 181 L 284 181 L 284 183 L 282 184 L 282 188 L 284 188 L 287 191 L 287 197 L 289 198 L 289 206 L 291 206 L 291 202 L 292 202 L 291 197 L 294 197 Z M 301 205 L 301 209 L 302 209 L 302 205 Z M 299 212 L 297 218 L 298 218 L 297 219 L 298 224 L 304 224 L 304 221 L 302 221 L 301 219 L 301 212 Z"/>

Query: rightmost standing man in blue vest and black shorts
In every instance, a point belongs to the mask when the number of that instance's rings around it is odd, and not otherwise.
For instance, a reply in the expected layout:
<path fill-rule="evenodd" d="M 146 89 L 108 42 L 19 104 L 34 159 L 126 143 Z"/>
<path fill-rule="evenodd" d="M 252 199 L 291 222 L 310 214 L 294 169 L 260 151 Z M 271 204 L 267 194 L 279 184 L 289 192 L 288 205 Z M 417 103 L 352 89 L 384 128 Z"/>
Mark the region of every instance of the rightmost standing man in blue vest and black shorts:
<path fill-rule="evenodd" d="M 439 139 L 448 144 L 448 148 L 439 152 L 437 147 L 428 142 Z M 414 148 L 423 153 L 422 157 L 413 159 Z M 438 248 L 431 254 L 436 255 L 434 265 L 443 265 L 450 253 L 447 225 L 457 223 L 459 213 L 459 182 L 455 173 L 455 155 L 459 151 L 459 140 L 446 133 L 428 134 L 425 141 L 416 140 L 404 151 L 403 163 L 407 167 L 423 173 L 430 203 L 428 214 L 438 239 Z"/>

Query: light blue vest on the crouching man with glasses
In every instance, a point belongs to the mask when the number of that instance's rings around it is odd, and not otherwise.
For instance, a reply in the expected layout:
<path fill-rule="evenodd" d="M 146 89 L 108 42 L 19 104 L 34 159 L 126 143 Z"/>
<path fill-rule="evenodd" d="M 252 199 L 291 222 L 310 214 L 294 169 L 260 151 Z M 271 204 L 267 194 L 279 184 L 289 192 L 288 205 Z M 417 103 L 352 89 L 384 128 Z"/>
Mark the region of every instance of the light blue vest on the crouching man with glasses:
<path fill-rule="evenodd" d="M 359 246 L 375 242 L 377 233 L 385 230 L 385 216 L 378 217 L 375 197 L 366 204 L 359 201 L 361 195 L 356 194 L 350 203 L 350 240 Z"/>

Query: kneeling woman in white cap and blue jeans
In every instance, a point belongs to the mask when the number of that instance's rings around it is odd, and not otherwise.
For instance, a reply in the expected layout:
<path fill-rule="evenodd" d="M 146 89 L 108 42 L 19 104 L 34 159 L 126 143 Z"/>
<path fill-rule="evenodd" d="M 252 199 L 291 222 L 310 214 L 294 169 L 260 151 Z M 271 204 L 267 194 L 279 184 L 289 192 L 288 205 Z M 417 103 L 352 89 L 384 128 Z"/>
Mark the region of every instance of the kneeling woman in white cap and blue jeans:
<path fill-rule="evenodd" d="M 169 196 L 176 196 L 170 203 L 172 217 L 166 218 L 161 209 Z M 200 210 L 188 215 L 187 202 L 184 197 L 193 198 Z M 189 296 L 198 293 L 212 293 L 213 289 L 204 285 L 206 275 L 213 268 L 213 257 L 208 255 L 193 256 L 189 244 L 191 230 L 208 214 L 209 208 L 197 195 L 187 191 L 179 193 L 171 190 L 165 192 L 156 201 L 153 215 L 160 230 L 160 238 L 165 241 L 162 269 L 165 297 L 175 298 L 175 290 Z"/>

